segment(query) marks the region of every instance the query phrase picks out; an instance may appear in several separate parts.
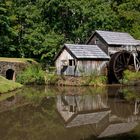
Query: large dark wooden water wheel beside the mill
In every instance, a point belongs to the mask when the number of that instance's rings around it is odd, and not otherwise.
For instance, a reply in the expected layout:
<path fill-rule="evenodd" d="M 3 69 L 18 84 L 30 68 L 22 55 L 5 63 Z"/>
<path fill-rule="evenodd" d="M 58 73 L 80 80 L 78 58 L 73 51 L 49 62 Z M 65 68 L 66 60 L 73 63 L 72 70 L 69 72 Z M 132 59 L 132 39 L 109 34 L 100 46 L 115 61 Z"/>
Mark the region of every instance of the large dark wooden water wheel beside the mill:
<path fill-rule="evenodd" d="M 108 66 L 109 83 L 119 83 L 119 80 L 123 78 L 123 71 L 126 69 L 134 70 L 133 54 L 128 51 L 113 54 Z"/>

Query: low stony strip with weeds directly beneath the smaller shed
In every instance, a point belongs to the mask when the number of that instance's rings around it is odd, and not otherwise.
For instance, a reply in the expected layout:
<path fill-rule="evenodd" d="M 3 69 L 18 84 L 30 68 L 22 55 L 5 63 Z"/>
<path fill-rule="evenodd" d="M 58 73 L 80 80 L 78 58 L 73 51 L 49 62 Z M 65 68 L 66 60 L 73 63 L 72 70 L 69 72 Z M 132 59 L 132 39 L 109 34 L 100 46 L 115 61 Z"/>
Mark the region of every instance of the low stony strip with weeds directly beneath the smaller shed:
<path fill-rule="evenodd" d="M 46 74 L 46 84 L 59 86 L 104 86 L 106 84 L 105 76 L 58 76 L 56 74 Z"/>

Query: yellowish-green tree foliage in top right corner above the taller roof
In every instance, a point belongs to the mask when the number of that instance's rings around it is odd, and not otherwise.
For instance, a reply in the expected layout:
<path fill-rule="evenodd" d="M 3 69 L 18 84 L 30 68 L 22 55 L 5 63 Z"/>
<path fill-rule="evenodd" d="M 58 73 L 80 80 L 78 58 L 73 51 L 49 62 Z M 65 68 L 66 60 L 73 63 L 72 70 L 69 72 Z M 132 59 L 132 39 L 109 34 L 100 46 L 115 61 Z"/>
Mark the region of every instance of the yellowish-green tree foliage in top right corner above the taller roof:
<path fill-rule="evenodd" d="M 112 4 L 120 21 L 120 30 L 129 32 L 135 38 L 140 39 L 140 1 L 120 0 Z"/>

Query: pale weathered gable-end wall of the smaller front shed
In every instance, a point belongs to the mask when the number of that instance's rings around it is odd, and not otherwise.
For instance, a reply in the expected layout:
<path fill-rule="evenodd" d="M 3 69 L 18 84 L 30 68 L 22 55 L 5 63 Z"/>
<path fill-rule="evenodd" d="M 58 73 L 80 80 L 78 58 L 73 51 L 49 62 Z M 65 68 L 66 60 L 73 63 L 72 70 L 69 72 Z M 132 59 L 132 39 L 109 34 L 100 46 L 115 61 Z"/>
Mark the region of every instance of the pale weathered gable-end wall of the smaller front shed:
<path fill-rule="evenodd" d="M 67 63 L 68 63 L 69 60 L 72 60 L 72 59 L 74 59 L 74 58 L 68 53 L 68 51 L 66 49 L 64 49 L 62 51 L 62 53 L 60 54 L 60 56 L 55 61 L 55 66 L 56 66 L 56 69 L 57 69 L 57 74 L 61 74 L 61 70 L 62 70 L 62 66 L 63 66 L 62 65 L 62 61 L 66 60 Z M 64 69 L 65 69 L 64 72 L 63 72 L 64 75 L 68 75 L 69 71 L 72 71 L 71 70 L 72 68 L 68 69 L 68 67 L 65 67 Z"/>

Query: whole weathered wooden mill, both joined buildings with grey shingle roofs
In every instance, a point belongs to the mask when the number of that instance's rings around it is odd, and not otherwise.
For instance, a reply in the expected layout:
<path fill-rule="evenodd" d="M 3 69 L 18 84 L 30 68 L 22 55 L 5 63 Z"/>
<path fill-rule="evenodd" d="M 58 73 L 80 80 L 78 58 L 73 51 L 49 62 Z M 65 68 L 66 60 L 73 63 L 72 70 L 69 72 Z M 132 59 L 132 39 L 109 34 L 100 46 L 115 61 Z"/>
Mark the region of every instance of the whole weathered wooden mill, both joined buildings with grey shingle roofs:
<path fill-rule="evenodd" d="M 81 76 L 106 73 L 112 54 L 121 50 L 140 50 L 140 40 L 125 32 L 96 30 L 85 45 L 65 44 L 55 57 L 57 74 Z"/>

